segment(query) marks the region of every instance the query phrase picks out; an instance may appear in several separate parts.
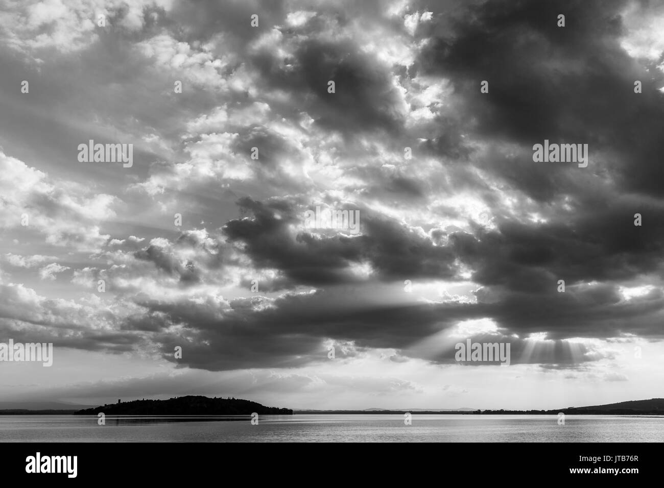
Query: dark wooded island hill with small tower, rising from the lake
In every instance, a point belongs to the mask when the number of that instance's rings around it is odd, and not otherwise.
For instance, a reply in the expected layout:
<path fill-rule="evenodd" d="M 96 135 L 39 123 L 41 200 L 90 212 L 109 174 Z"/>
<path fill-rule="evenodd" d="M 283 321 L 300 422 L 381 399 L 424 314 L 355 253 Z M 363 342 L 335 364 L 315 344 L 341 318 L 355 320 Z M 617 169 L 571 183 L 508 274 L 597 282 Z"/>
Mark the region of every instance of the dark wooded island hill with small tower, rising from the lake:
<path fill-rule="evenodd" d="M 266 407 L 240 398 L 179 396 L 168 400 L 134 400 L 78 410 L 74 415 L 292 415 L 288 408 Z"/>

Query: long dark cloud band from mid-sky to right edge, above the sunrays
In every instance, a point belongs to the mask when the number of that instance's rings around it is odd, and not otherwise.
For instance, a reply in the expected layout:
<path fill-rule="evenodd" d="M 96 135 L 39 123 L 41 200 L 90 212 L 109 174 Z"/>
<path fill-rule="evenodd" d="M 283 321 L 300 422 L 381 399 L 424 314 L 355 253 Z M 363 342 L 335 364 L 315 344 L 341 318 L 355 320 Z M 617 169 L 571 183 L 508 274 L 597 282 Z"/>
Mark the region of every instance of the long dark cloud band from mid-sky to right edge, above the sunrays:
<path fill-rule="evenodd" d="M 475 270 L 472 278 L 478 284 L 546 293 L 561 279 L 567 284 L 629 280 L 657 267 L 664 251 L 664 228 L 634 226 L 633 209 L 625 210 L 620 203 L 591 207 L 586 216 L 558 218 L 550 224 L 501 220 L 496 231 L 480 231 L 477 236 L 452 232 L 448 246 L 436 246 L 432 238 L 364 209 L 361 236 L 293 236 L 290 224 L 303 219 L 294 204 L 250 199 L 238 204 L 254 218 L 228 222 L 224 233 L 230 242 L 246 244 L 246 253 L 259 268 L 274 267 L 295 282 L 309 284 L 350 282 L 345 273 L 349 264 L 363 261 L 371 262 L 382 280 L 456 278 L 454 260 L 459 258 Z M 623 222 L 616 225 L 620 214 Z M 664 218 L 661 210 L 648 215 Z"/>

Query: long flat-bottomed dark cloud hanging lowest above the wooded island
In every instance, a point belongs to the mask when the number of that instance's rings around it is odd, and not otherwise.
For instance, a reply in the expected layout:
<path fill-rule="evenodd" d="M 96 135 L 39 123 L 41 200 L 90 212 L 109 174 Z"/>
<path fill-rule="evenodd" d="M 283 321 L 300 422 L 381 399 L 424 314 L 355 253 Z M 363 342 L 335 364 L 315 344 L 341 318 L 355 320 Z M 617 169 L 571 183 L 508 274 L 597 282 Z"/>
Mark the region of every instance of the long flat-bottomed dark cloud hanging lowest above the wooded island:
<path fill-rule="evenodd" d="M 211 370 L 325 361 L 323 340 L 329 338 L 342 344 L 355 341 L 350 353 L 337 353 L 340 358 L 366 348 L 406 347 L 438 331 L 442 322 L 441 310 L 432 305 L 353 307 L 321 291 L 285 295 L 274 303 L 260 297 L 238 299 L 228 309 L 191 301 L 140 305 L 159 313 L 164 329 L 173 323 L 185 327 L 179 336 L 166 331 L 155 336 L 163 345 L 165 359 L 175 361 L 172 351 L 179 345 L 183 357 L 177 363 Z M 449 307 L 445 314 L 448 325 L 475 315 L 461 306 Z"/>

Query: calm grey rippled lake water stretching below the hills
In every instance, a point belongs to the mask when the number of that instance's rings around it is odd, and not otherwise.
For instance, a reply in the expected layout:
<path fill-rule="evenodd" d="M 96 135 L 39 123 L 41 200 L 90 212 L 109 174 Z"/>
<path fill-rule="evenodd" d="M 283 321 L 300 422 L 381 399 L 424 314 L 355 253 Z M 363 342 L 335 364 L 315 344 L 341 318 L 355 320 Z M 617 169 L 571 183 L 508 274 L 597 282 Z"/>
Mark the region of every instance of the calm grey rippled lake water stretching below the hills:
<path fill-rule="evenodd" d="M 0 416 L 0 442 L 663 442 L 664 416 Z"/>

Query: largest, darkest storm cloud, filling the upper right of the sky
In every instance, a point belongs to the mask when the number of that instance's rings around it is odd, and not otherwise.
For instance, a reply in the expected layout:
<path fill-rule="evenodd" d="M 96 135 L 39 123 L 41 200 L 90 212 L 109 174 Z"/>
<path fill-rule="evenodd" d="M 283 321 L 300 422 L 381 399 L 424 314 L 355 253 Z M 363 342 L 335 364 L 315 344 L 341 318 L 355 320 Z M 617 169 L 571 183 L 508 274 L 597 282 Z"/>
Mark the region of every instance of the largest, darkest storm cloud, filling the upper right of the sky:
<path fill-rule="evenodd" d="M 591 165 L 593 155 L 597 161 L 600 150 L 608 151 L 617 160 L 616 180 L 627 189 L 661 196 L 656 182 L 663 176 L 659 155 L 664 141 L 656 127 L 664 118 L 663 96 L 657 91 L 662 74 L 620 46 L 625 5 L 472 5 L 456 16 L 450 31 L 434 35 L 416 67 L 452 79 L 465 102 L 466 120 L 477 122 L 478 135 L 528 148 L 544 139 L 588 143 Z M 560 13 L 566 16 L 565 27 L 556 25 Z M 489 82 L 489 94 L 479 92 L 482 80 Z M 635 80 L 643 83 L 643 93 L 634 93 Z M 491 171 L 491 165 L 486 169 Z M 499 176 L 504 169 L 497 169 Z M 515 186 L 535 198 L 552 197 L 541 169 L 531 161 L 519 165 L 519 175 L 511 179 Z"/>

